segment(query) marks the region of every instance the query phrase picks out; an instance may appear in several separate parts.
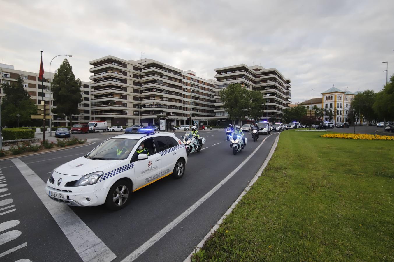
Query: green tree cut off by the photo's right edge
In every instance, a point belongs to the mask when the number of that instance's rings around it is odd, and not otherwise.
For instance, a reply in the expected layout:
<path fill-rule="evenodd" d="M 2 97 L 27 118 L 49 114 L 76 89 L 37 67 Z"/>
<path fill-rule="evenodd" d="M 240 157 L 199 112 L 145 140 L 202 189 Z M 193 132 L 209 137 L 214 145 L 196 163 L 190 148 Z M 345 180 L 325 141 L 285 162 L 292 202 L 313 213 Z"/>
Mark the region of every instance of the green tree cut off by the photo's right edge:
<path fill-rule="evenodd" d="M 372 108 L 376 118 L 394 120 L 394 75 L 390 77 L 390 82 L 383 87 L 383 90 L 376 94 Z"/>

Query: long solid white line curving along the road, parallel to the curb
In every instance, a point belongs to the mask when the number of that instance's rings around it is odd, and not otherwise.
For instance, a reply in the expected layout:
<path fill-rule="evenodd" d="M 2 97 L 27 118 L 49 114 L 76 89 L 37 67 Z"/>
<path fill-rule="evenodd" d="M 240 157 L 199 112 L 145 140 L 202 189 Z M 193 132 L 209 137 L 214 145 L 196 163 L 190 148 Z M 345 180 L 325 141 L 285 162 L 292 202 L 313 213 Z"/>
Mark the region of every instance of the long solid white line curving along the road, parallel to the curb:
<path fill-rule="evenodd" d="M 234 169 L 225 179 L 223 179 L 219 184 L 217 184 L 214 188 L 212 188 L 208 193 L 206 193 L 203 197 L 201 197 L 196 203 L 194 203 L 191 207 L 186 209 L 182 214 L 180 214 L 177 218 L 175 218 L 171 223 L 166 225 L 162 230 L 157 232 L 154 236 L 149 238 L 147 242 L 142 244 L 138 249 L 134 250 L 130 255 L 126 256 L 121 262 L 132 262 L 136 260 L 142 253 L 147 251 L 152 245 L 158 242 L 165 234 L 167 234 L 171 229 L 177 226 L 182 220 L 184 220 L 188 215 L 191 214 L 197 207 L 199 207 L 202 203 L 204 203 L 210 196 L 212 196 L 221 186 L 223 186 L 231 177 L 234 176 L 246 163 L 253 157 L 253 155 L 257 152 L 258 149 L 262 146 L 264 141 L 271 135 L 268 135 L 264 140 L 260 143 L 259 146 L 236 168 Z M 204 148 L 203 148 L 204 149 Z M 201 149 L 201 150 L 203 150 Z"/>

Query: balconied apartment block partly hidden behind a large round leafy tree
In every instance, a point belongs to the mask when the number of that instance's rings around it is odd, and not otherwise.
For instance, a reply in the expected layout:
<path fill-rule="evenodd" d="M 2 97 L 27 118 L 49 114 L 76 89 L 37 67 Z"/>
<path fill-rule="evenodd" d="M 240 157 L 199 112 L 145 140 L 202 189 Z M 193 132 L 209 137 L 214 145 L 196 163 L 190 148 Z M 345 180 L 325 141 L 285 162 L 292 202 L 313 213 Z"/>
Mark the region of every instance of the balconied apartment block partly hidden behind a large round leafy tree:
<path fill-rule="evenodd" d="M 291 98 L 291 81 L 276 68 L 247 66 L 244 64 L 215 68 L 215 117 L 219 124 L 229 122 L 227 112 L 220 101 L 220 91 L 232 83 L 240 83 L 248 90 L 260 91 L 267 101 L 268 109 L 262 112 L 261 119 L 272 117 L 280 119 L 282 111 L 288 107 Z M 260 120 L 260 119 L 259 119 Z M 253 120 L 252 120 L 253 121 Z"/>

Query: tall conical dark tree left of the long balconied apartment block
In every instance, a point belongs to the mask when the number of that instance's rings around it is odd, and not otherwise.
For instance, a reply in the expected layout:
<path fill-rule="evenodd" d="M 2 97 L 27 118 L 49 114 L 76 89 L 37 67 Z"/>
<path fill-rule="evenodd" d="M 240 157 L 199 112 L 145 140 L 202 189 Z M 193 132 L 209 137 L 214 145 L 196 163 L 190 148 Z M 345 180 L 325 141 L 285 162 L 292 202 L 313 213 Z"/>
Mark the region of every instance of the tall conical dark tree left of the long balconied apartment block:
<path fill-rule="evenodd" d="M 58 73 L 52 81 L 54 108 L 52 111 L 60 116 L 68 116 L 72 126 L 71 116 L 80 114 L 78 104 L 82 101 L 81 81 L 75 79 L 72 67 L 67 59 L 60 65 Z"/>

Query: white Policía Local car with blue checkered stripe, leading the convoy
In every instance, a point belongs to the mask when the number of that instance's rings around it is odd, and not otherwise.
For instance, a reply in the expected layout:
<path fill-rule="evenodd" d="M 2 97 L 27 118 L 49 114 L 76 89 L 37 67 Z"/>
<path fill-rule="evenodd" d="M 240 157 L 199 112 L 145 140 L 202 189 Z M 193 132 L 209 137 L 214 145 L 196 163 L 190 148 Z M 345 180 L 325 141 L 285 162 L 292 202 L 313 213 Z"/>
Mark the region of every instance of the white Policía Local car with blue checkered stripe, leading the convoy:
<path fill-rule="evenodd" d="M 142 143 L 148 152 L 140 153 Z M 55 168 L 45 192 L 67 205 L 119 210 L 132 192 L 167 175 L 181 178 L 187 160 L 185 145 L 173 133 L 119 135 Z"/>

